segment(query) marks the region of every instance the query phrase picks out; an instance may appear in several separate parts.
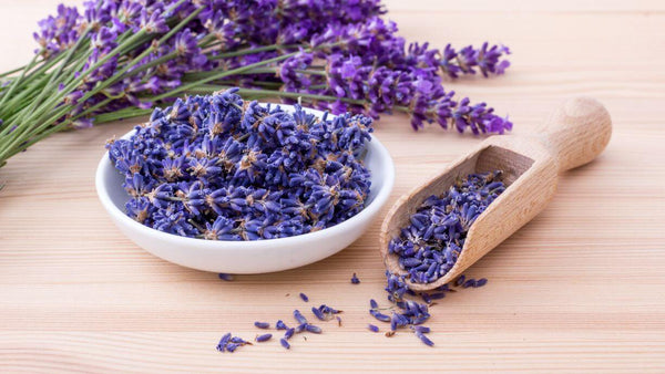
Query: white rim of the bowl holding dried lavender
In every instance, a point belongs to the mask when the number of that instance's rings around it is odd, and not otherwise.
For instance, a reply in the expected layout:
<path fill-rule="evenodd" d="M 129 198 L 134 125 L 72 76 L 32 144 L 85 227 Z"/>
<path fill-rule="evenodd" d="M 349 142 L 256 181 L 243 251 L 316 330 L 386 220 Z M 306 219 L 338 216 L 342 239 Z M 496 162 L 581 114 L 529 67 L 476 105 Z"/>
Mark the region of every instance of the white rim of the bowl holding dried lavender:
<path fill-rule="evenodd" d="M 284 105 L 279 106 L 288 108 L 293 107 L 293 105 Z M 318 110 L 305 108 L 308 112 L 321 115 L 324 112 Z M 131 129 L 120 138 L 127 138 L 134 133 L 136 129 Z M 183 247 L 197 247 L 213 250 L 265 250 L 268 247 L 274 246 L 288 246 L 288 245 L 298 245 L 303 241 L 317 241 L 324 240 L 329 237 L 334 237 L 337 235 L 344 235 L 348 231 L 352 225 L 360 225 L 364 220 L 371 219 L 376 214 L 379 212 L 381 207 L 388 200 L 390 193 L 392 191 L 392 187 L 395 185 L 395 164 L 392 162 L 392 157 L 388 149 L 377 139 L 374 134 L 370 134 L 371 141 L 368 142 L 368 147 L 372 150 L 377 152 L 377 156 L 383 160 L 383 168 L 381 168 L 381 188 L 377 191 L 375 198 L 367 205 L 362 210 L 352 216 L 351 218 L 345 220 L 344 222 L 337 224 L 335 226 L 325 228 L 315 232 L 301 233 L 287 238 L 275 238 L 275 239 L 260 239 L 260 240 L 241 240 L 241 241 L 232 241 L 232 240 L 204 240 L 200 238 L 191 238 L 191 237 L 182 237 L 174 233 L 168 233 L 164 231 L 160 231 L 152 227 L 147 227 L 143 224 L 135 221 L 130 218 L 124 211 L 122 211 L 111 200 L 111 196 L 109 194 L 109 189 L 105 186 L 105 175 L 110 168 L 113 168 L 111 172 L 116 172 L 109 159 L 109 152 L 106 150 L 102 156 L 102 159 L 98 164 L 98 168 L 95 172 L 95 189 L 100 201 L 104 209 L 112 216 L 112 218 L 116 222 L 122 222 L 127 228 L 131 228 L 134 231 L 143 231 L 144 236 L 152 236 L 157 240 L 162 241 L 171 241 L 174 245 L 183 246 Z M 371 188 L 371 187 L 370 187 Z"/>

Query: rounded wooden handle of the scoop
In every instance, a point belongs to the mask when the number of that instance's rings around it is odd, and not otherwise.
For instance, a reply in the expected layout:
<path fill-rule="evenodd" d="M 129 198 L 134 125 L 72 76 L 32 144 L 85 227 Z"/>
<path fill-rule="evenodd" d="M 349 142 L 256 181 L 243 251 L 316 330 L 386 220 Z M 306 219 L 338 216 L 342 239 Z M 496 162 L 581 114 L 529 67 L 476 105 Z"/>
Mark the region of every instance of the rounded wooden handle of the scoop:
<path fill-rule="evenodd" d="M 612 136 L 610 113 L 597 100 L 573 97 L 545 120 L 538 134 L 559 163 L 559 173 L 582 166 L 605 149 Z"/>

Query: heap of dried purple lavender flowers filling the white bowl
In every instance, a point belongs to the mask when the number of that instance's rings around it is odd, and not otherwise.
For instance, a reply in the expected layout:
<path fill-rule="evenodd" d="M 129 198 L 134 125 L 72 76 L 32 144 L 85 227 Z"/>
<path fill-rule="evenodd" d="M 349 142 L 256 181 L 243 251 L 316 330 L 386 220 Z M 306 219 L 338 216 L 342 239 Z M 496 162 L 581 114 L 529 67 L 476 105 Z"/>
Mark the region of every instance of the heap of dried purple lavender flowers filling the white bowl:
<path fill-rule="evenodd" d="M 364 208 L 371 118 L 287 113 L 236 91 L 177 100 L 108 144 L 130 217 L 180 236 L 258 240 L 320 230 Z"/>

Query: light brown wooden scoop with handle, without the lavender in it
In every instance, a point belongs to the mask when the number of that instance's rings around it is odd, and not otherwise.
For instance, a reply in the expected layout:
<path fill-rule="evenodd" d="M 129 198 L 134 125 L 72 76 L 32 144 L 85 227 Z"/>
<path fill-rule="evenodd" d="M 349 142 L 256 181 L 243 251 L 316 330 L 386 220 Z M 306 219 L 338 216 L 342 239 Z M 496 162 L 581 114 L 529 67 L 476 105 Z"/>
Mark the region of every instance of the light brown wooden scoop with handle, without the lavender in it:
<path fill-rule="evenodd" d="M 541 212 L 554 196 L 559 174 L 594 159 L 611 135 L 612 122 L 605 107 L 594 98 L 575 97 L 563 103 L 532 135 L 488 137 L 434 178 L 402 196 L 388 211 L 379 236 L 386 267 L 393 273 L 407 274 L 398 257 L 388 253 L 388 243 L 409 225 L 426 198 L 442 195 L 457 178 L 469 174 L 502 170 L 508 188 L 471 226 L 452 269 L 436 282 L 409 282 L 409 287 L 427 291 L 454 280 Z"/>

